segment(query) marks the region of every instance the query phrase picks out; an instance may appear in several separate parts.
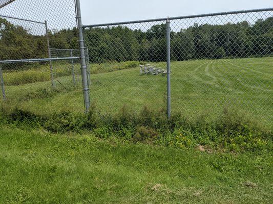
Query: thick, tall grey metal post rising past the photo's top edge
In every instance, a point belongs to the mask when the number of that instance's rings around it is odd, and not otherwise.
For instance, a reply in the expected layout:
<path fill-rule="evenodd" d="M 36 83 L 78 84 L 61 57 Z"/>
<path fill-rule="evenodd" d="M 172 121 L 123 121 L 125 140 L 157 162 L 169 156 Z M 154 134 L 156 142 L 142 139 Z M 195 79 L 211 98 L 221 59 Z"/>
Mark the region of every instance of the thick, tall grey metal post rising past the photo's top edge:
<path fill-rule="evenodd" d="M 77 22 L 78 22 L 78 32 L 79 32 L 79 47 L 80 47 L 80 62 L 81 62 L 81 78 L 82 78 L 82 89 L 83 89 L 83 98 L 85 99 L 85 108 L 86 113 L 90 108 L 90 95 L 89 95 L 89 86 L 88 86 L 88 71 L 86 64 L 86 54 L 85 54 L 85 41 L 83 39 L 83 29 L 81 22 L 81 11 L 79 0 L 75 0 L 77 8 Z"/>

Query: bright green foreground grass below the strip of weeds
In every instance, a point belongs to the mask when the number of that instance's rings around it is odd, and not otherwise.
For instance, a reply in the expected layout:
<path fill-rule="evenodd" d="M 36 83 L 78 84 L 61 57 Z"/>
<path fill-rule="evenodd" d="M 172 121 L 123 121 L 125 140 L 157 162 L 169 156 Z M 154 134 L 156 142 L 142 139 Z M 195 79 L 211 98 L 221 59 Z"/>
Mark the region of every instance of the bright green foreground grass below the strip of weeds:
<path fill-rule="evenodd" d="M 0 203 L 271 203 L 272 154 L 0 129 Z"/>

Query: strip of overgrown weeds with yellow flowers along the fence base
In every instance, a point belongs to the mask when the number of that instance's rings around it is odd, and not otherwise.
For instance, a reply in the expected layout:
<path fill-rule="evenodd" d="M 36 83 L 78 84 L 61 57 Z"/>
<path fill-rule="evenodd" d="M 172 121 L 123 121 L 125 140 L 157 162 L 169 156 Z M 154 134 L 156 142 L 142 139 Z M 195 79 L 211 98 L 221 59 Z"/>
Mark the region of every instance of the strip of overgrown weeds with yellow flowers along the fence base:
<path fill-rule="evenodd" d="M 127 106 L 123 106 L 113 117 L 102 115 L 95 103 L 87 115 L 64 111 L 46 117 L 14 109 L 9 114 L 2 112 L 2 117 L 8 123 L 39 127 L 55 133 L 89 131 L 98 138 L 114 138 L 134 143 L 177 148 L 202 145 L 209 149 L 235 152 L 272 150 L 271 130 L 230 109 L 224 109 L 213 121 L 207 120 L 205 116 L 190 120 L 174 115 L 167 119 L 164 112 L 154 113 L 147 107 L 135 114 Z"/>

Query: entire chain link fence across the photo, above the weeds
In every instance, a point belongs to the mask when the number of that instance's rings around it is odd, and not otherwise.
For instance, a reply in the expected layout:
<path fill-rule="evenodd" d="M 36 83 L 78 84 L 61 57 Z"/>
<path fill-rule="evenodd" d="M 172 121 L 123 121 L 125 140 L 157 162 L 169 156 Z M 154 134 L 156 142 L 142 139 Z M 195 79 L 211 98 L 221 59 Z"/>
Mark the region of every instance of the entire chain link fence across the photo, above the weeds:
<path fill-rule="evenodd" d="M 82 30 L 75 2 L 0 1 L 4 109 L 82 113 L 95 103 L 102 114 L 215 118 L 232 108 L 272 125 L 272 8 Z"/>

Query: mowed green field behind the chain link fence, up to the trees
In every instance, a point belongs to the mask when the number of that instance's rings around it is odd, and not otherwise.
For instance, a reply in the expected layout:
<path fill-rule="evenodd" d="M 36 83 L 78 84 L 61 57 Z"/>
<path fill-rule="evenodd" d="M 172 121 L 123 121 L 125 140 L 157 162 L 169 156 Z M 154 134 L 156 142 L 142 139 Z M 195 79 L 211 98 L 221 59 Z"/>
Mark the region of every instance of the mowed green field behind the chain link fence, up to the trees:
<path fill-rule="evenodd" d="M 151 64 L 165 68 L 165 63 Z M 208 115 L 215 118 L 225 107 L 236 108 L 271 126 L 272 64 L 273 58 L 172 62 L 172 111 L 186 117 Z M 82 113 L 80 72 L 76 66 L 76 87 L 73 87 L 69 71 L 56 74 L 57 92 L 51 97 L 41 94 L 45 92 L 43 89 L 51 90 L 50 81 L 20 86 L 7 83 L 8 103 L 36 114 L 64 110 Z M 69 70 L 64 65 L 56 67 Z M 43 73 L 49 77 L 49 71 Z M 127 66 L 126 63 L 92 64 L 91 73 L 91 101 L 95 101 L 103 114 L 116 114 L 124 105 L 135 112 L 143 106 L 155 111 L 166 107 L 166 77 L 139 75 L 137 64 Z M 9 81 L 9 77 L 6 78 Z"/>

